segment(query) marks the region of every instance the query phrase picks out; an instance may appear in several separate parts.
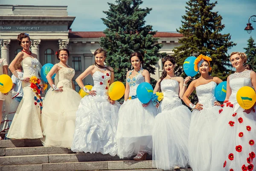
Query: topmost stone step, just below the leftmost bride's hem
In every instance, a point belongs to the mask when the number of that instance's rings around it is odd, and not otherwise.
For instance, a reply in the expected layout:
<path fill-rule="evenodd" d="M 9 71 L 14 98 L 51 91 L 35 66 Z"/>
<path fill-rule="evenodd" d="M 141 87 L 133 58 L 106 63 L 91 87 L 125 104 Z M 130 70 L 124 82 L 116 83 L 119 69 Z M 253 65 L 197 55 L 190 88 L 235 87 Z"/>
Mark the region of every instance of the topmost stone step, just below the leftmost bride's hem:
<path fill-rule="evenodd" d="M 0 141 L 0 148 L 43 146 L 40 139 L 8 139 Z"/>

